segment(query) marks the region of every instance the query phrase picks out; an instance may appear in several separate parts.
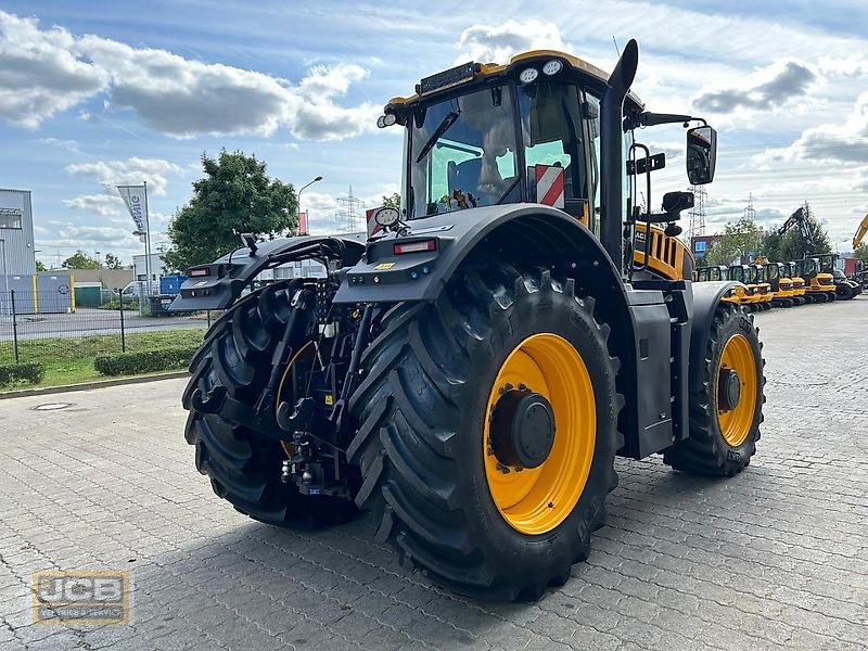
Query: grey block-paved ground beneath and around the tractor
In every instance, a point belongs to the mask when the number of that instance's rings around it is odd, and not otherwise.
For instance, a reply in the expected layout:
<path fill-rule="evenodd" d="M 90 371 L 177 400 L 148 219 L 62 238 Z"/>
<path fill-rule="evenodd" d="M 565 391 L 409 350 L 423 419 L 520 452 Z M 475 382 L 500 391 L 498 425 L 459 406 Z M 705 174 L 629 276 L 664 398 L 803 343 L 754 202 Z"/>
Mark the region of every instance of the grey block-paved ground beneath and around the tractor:
<path fill-rule="evenodd" d="M 365 518 L 311 533 L 240 515 L 193 468 L 182 380 L 0 401 L 0 651 L 865 649 L 868 298 L 757 320 L 751 467 L 620 460 L 589 561 L 534 604 L 431 587 Z M 50 569 L 131 571 L 131 624 L 31 625 L 30 573 Z"/>

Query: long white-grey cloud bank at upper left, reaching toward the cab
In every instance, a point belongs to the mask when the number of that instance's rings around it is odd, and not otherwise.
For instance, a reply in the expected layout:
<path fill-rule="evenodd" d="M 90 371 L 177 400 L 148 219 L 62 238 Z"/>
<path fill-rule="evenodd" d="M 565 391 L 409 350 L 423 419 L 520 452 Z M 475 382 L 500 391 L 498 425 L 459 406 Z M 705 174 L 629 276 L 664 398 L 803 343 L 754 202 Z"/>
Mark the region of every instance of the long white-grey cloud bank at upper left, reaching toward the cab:
<path fill-rule="evenodd" d="M 175 138 L 270 136 L 285 126 L 296 138 L 336 140 L 374 128 L 373 104 L 335 102 L 367 76 L 358 65 L 317 65 L 293 86 L 166 50 L 41 29 L 35 18 L 0 12 L 0 116 L 26 127 L 107 92 L 105 111 L 131 110 L 149 128 Z M 98 116 L 81 110 L 79 117 Z"/>

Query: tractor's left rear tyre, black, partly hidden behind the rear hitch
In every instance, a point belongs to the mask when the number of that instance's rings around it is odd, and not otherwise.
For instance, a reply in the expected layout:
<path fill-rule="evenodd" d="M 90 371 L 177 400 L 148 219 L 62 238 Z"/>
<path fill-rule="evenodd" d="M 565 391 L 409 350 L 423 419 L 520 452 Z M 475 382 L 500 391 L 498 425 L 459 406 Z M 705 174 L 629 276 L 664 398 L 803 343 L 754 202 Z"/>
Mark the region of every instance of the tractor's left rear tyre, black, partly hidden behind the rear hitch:
<path fill-rule="evenodd" d="M 199 411 L 192 399 L 195 390 L 207 396 L 213 390 L 225 388 L 232 400 L 256 408 L 268 384 L 275 348 L 290 323 L 290 302 L 296 289 L 297 283 L 292 281 L 269 285 L 239 301 L 212 327 L 191 360 L 192 378 L 182 404 L 190 411 L 184 437 L 195 447 L 196 469 L 208 476 L 217 496 L 254 520 L 310 527 L 346 521 L 355 505 L 305 496 L 294 484 L 282 483 L 281 465 L 286 454 L 279 441 L 234 420 L 228 409 Z M 299 350 L 309 341 L 310 326 L 299 319 L 294 330 L 290 345 Z"/>

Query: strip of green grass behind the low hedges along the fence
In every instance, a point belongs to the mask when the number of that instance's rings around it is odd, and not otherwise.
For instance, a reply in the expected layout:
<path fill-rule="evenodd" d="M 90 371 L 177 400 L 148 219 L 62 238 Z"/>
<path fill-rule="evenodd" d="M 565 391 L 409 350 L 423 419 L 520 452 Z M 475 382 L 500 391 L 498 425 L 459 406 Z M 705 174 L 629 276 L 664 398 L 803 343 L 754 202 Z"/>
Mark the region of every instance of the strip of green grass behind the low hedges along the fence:
<path fill-rule="evenodd" d="M 126 335 L 128 353 L 196 347 L 205 334 L 203 328 L 190 330 L 156 330 Z M 21 361 L 39 361 L 44 379 L 39 386 L 63 386 L 105 380 L 93 368 L 98 355 L 120 353 L 119 334 L 91 334 L 75 337 L 52 337 L 18 342 Z M 12 363 L 12 342 L 0 342 L 0 363 Z"/>

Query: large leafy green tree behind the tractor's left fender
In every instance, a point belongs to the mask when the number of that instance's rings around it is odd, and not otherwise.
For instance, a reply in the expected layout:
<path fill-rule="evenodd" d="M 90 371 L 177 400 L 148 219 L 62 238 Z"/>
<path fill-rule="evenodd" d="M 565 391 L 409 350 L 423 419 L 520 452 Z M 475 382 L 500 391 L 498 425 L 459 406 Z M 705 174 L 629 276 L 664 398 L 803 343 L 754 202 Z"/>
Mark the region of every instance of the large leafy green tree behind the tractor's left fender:
<path fill-rule="evenodd" d="M 204 178 L 193 183 L 192 199 L 168 226 L 171 246 L 163 253 L 168 267 L 184 270 L 210 263 L 241 246 L 239 235 L 295 233 L 295 190 L 266 175 L 266 164 L 242 152 L 202 155 Z"/>

